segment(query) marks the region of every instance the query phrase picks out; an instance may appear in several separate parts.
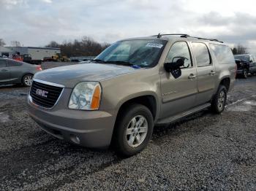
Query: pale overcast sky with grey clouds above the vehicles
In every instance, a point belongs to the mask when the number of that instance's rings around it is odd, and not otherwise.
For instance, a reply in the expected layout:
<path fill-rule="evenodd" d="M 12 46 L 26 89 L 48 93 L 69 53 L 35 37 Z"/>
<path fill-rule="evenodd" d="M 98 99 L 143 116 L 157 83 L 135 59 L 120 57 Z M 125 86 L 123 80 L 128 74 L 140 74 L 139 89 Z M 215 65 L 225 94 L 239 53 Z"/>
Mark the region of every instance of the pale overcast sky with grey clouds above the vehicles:
<path fill-rule="evenodd" d="M 160 32 L 217 38 L 256 53 L 253 0 L 0 0 L 0 25 L 7 45 L 82 36 L 111 43 Z"/>

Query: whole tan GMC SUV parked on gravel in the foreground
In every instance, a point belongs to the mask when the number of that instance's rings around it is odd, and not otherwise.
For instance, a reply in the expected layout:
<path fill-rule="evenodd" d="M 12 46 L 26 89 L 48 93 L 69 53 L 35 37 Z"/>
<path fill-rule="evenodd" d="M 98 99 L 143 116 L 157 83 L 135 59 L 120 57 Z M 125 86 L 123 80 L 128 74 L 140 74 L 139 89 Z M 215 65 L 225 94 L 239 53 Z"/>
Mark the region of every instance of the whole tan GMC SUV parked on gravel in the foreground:
<path fill-rule="evenodd" d="M 124 39 L 90 63 L 35 74 L 29 114 L 40 128 L 84 147 L 146 147 L 156 125 L 225 108 L 236 63 L 226 44 L 186 34 Z"/>

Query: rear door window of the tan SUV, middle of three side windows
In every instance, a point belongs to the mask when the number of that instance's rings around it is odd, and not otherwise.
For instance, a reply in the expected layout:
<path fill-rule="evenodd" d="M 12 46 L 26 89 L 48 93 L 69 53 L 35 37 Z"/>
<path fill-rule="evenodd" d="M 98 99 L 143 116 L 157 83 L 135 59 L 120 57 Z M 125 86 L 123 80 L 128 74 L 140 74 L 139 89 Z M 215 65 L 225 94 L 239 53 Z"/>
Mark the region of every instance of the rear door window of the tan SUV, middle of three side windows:
<path fill-rule="evenodd" d="M 192 48 L 197 66 L 209 66 L 211 64 L 211 58 L 206 44 L 202 42 L 192 42 Z"/>

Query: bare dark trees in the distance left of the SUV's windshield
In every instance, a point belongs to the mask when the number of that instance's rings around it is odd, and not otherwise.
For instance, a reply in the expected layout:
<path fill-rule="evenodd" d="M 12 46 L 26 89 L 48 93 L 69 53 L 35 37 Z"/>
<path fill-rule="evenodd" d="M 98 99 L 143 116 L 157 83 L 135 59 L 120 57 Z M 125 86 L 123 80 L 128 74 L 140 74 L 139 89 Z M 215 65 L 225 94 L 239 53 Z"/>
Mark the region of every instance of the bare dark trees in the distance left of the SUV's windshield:
<path fill-rule="evenodd" d="M 108 43 L 99 43 L 88 36 L 84 36 L 81 40 L 64 41 L 61 44 L 51 41 L 45 47 L 57 47 L 61 49 L 61 55 L 70 56 L 96 56 L 100 52 L 109 47 Z"/>

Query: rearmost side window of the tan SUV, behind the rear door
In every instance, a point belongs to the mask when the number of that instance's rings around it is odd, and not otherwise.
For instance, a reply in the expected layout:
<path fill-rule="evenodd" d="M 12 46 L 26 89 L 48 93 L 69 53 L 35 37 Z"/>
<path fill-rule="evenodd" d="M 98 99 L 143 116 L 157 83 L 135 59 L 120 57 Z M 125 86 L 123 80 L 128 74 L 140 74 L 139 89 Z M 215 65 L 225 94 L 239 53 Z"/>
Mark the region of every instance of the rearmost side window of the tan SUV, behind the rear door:
<path fill-rule="evenodd" d="M 210 44 L 210 47 L 211 50 L 214 51 L 214 55 L 217 58 L 218 63 L 235 63 L 234 55 L 230 47 L 221 44 Z"/>

